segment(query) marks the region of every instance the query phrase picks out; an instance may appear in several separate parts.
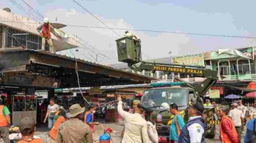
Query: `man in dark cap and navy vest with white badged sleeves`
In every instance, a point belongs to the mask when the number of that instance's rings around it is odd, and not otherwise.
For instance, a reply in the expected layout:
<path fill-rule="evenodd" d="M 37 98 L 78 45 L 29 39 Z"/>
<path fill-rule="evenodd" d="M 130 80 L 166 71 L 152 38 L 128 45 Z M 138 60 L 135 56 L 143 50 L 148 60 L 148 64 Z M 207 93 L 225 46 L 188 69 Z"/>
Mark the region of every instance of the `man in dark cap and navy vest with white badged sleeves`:
<path fill-rule="evenodd" d="M 181 134 L 178 137 L 178 143 L 198 143 L 206 142 L 206 124 L 202 118 L 203 104 L 194 101 L 188 103 L 188 115 L 190 116 L 188 123 L 181 130 Z"/>

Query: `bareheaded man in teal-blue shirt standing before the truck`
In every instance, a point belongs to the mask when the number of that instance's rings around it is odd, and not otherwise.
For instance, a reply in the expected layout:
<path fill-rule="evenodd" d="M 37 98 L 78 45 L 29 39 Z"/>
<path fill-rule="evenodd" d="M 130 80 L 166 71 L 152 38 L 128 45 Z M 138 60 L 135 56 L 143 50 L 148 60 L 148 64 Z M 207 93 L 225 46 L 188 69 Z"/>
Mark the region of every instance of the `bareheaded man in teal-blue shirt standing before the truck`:
<path fill-rule="evenodd" d="M 176 143 L 178 142 L 178 135 L 180 134 L 183 126 L 185 125 L 185 122 L 181 115 L 179 115 L 178 113 L 178 105 L 176 105 L 176 103 L 171 103 L 170 112 L 174 115 L 174 118 L 169 128 L 169 139 L 171 140 L 171 143 Z"/>

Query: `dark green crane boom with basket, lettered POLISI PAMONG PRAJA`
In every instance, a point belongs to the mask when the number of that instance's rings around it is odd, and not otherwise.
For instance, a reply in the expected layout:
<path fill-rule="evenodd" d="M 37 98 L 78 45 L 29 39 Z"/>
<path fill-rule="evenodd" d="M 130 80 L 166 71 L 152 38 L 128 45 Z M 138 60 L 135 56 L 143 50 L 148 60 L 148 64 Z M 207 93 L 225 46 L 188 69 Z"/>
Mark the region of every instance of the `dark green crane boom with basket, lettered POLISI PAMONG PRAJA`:
<path fill-rule="evenodd" d="M 206 94 L 210 86 L 215 84 L 218 79 L 218 72 L 210 69 L 205 69 L 205 67 L 189 66 L 183 64 L 161 64 L 155 62 L 144 62 L 141 57 L 141 44 L 140 40 L 134 40 L 132 38 L 120 38 L 116 40 L 117 42 L 117 52 L 119 62 L 125 62 L 131 69 L 135 71 L 164 71 L 166 74 L 171 73 L 181 73 L 181 74 L 193 74 L 197 76 L 206 77 L 198 85 L 190 84 L 182 79 L 178 81 L 183 81 L 187 86 L 191 87 L 196 91 L 196 96 L 198 101 L 203 102 L 202 97 Z"/>

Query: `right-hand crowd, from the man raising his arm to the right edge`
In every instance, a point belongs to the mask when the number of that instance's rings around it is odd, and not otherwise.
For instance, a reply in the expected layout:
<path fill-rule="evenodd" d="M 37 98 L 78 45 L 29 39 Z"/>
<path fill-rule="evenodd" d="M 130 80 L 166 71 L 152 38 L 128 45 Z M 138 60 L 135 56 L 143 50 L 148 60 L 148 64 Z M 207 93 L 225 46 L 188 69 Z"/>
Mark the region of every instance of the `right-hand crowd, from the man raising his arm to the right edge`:
<path fill-rule="evenodd" d="M 198 101 L 189 102 L 188 115 L 189 120 L 185 124 L 183 118 L 178 112 L 178 105 L 171 103 L 169 106 L 170 112 L 174 115 L 171 125 L 163 125 L 156 123 L 149 118 L 146 108 L 144 108 L 139 101 L 135 101 L 132 106 L 133 112 L 127 112 L 122 109 L 122 98 L 118 97 L 119 101 L 117 110 L 124 118 L 125 127 L 123 130 L 122 142 L 158 142 L 158 135 L 156 129 L 169 131 L 169 142 L 180 143 L 198 143 L 206 142 L 207 127 L 203 118 L 203 111 L 205 107 L 215 108 L 220 121 L 220 141 L 224 143 L 239 143 L 242 140 L 241 135 L 244 134 L 245 119 L 247 108 L 242 105 L 242 101 L 235 101 L 231 104 L 232 108 L 225 105 L 218 105 L 210 100 L 206 100 L 205 104 Z M 244 142 L 256 142 L 256 101 L 249 110 L 250 122 L 247 124 L 247 130 Z M 143 114 L 144 113 L 144 114 Z M 151 122 L 149 124 L 148 122 Z M 156 140 L 154 140 L 156 139 Z"/>

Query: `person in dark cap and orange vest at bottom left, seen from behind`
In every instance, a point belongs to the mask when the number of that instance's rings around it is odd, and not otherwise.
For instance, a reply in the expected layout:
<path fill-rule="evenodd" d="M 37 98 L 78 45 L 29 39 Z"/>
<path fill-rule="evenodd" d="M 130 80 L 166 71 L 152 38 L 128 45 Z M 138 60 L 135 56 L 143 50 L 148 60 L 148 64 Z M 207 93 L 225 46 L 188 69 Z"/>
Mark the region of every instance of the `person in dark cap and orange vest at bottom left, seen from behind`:
<path fill-rule="evenodd" d="M 19 125 L 22 139 L 18 143 L 43 143 L 42 139 L 34 139 L 36 132 L 36 122 L 33 118 L 23 118 Z"/>

